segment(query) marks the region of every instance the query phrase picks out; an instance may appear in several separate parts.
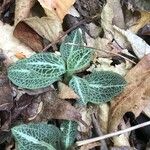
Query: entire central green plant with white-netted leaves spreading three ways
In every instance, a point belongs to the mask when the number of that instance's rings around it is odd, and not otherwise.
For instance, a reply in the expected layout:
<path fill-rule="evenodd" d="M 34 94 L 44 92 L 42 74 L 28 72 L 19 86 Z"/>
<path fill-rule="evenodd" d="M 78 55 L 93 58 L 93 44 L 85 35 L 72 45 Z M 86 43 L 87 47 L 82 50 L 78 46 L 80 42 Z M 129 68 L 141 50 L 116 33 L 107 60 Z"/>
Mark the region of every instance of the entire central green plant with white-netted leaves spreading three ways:
<path fill-rule="evenodd" d="M 93 56 L 92 49 L 81 48 L 83 44 L 81 30 L 75 30 L 61 44 L 61 55 L 39 53 L 19 60 L 8 68 L 8 77 L 21 88 L 38 89 L 51 85 L 64 75 L 71 78 L 69 86 L 83 104 L 109 101 L 122 91 L 126 82 L 119 74 L 109 71 L 94 71 L 83 78 L 76 76 L 90 65 Z"/>

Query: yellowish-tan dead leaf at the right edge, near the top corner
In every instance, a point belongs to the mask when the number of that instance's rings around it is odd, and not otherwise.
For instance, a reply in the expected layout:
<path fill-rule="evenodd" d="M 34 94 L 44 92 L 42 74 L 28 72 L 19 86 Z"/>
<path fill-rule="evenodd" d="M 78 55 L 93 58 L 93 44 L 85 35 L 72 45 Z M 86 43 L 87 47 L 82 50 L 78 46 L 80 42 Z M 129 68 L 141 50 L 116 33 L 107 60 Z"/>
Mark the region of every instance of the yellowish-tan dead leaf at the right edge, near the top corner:
<path fill-rule="evenodd" d="M 150 23 L 150 12 L 140 11 L 141 17 L 135 22 L 135 24 L 130 28 L 134 33 L 137 33 L 139 29 L 143 28 L 146 24 Z"/>

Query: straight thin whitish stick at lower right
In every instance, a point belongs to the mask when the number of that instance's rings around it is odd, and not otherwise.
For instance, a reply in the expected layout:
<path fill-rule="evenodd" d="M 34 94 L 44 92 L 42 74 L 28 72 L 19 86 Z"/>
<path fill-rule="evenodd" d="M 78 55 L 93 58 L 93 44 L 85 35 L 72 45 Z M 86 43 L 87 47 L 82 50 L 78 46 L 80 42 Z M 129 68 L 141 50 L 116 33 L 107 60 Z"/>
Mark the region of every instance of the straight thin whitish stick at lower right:
<path fill-rule="evenodd" d="M 106 134 L 104 136 L 91 138 L 91 139 L 87 139 L 87 140 L 83 140 L 83 141 L 78 141 L 78 142 L 76 142 L 76 145 L 77 146 L 82 146 L 82 145 L 89 144 L 89 143 L 92 143 L 92 142 L 97 142 L 97 141 L 100 141 L 100 140 L 103 140 L 103 139 L 107 139 L 107 138 L 110 138 L 110 137 L 113 137 L 113 136 L 117 136 L 119 134 L 124 134 L 126 132 L 130 132 L 130 131 L 133 131 L 133 130 L 136 130 L 138 128 L 142 128 L 142 127 L 145 127 L 145 126 L 148 126 L 148 125 L 150 125 L 150 121 L 138 124 L 136 126 L 133 126 L 133 127 L 130 127 L 130 128 L 124 129 L 124 130 L 120 130 L 120 131 L 117 131 L 117 132 L 112 132 L 112 133 Z"/>

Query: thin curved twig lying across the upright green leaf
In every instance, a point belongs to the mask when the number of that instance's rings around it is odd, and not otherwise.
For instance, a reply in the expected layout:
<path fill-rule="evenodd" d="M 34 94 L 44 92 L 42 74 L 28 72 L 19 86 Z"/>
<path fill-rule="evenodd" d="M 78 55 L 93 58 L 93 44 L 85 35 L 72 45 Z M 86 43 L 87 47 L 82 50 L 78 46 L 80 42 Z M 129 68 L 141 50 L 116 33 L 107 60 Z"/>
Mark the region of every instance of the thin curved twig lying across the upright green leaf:
<path fill-rule="evenodd" d="M 113 54 L 113 55 L 116 55 L 116 56 L 120 56 L 122 58 L 124 58 L 125 60 L 128 60 L 129 62 L 133 63 L 133 64 L 136 64 L 136 62 L 132 61 L 131 59 L 121 55 L 121 54 L 118 54 L 118 53 L 115 53 L 115 52 L 110 52 L 110 51 L 107 51 L 107 50 L 103 50 L 103 49 L 99 49 L 99 48 L 95 48 L 95 47 L 90 47 L 90 46 L 83 46 L 83 45 L 78 45 L 78 44 L 74 44 L 74 43 L 66 43 L 68 45 L 76 45 L 76 46 L 79 46 L 79 47 L 86 47 L 86 48 L 91 48 L 91 49 L 94 49 L 95 51 L 97 52 L 105 52 L 105 53 L 109 53 L 109 54 Z M 123 53 L 122 53 L 123 54 Z"/>

